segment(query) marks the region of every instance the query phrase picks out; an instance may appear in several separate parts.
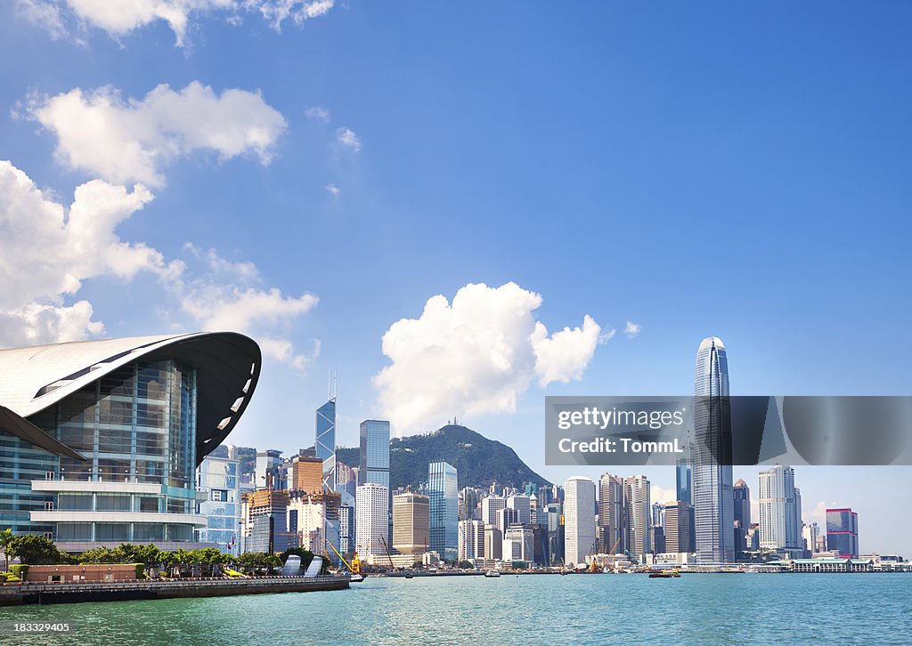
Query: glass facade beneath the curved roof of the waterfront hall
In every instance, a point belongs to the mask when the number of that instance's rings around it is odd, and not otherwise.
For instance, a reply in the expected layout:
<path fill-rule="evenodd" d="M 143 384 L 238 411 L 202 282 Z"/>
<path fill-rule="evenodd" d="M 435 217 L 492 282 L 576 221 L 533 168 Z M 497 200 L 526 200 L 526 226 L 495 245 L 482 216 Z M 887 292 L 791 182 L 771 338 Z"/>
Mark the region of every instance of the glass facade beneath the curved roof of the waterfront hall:
<path fill-rule="evenodd" d="M 191 541 L 186 520 L 139 522 L 135 514 L 195 513 L 196 394 L 192 368 L 137 361 L 29 418 L 85 462 L 0 433 L 4 526 L 61 542 Z M 32 487 L 33 480 L 43 486 Z M 32 511 L 53 513 L 32 521 Z M 94 512 L 130 516 L 96 522 Z"/>

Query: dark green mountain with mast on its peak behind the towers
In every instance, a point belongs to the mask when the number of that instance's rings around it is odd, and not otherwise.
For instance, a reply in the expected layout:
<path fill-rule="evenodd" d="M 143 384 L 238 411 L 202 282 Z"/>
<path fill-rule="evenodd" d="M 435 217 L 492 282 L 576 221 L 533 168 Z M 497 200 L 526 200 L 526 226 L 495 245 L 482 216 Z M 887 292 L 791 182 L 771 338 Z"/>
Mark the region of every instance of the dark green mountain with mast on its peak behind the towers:
<path fill-rule="evenodd" d="M 336 459 L 358 467 L 358 447 L 339 447 Z M 412 488 L 428 481 L 428 463 L 444 461 L 456 467 L 460 487 L 523 487 L 535 482 L 551 483 L 527 467 L 512 448 L 490 440 L 471 428 L 448 425 L 423 436 L 393 438 L 389 442 L 389 483 L 392 487 Z"/>

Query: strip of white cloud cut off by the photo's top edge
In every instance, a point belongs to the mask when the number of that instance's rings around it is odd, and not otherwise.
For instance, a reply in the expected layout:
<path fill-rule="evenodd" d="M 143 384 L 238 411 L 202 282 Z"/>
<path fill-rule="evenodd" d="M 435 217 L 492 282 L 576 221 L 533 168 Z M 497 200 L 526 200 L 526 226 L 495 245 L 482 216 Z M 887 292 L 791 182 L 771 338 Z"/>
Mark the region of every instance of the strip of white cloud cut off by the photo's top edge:
<path fill-rule="evenodd" d="M 101 29 L 112 38 L 159 22 L 174 33 L 177 46 L 186 43 L 192 19 L 203 15 L 226 15 L 238 24 L 242 11 L 259 13 L 275 31 L 291 20 L 302 26 L 306 20 L 326 15 L 334 0 L 17 0 L 20 15 L 47 29 L 52 37 L 89 27 Z M 65 25 L 66 24 L 66 25 Z M 67 28 L 68 26 L 68 28 Z"/>

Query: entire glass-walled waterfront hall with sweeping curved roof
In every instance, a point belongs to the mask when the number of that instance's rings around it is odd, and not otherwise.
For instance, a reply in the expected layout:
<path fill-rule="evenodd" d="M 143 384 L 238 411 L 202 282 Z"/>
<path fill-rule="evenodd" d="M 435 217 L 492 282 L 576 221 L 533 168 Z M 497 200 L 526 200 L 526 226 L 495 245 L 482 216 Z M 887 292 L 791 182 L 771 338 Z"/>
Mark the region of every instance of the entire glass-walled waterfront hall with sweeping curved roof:
<path fill-rule="evenodd" d="M 244 414 L 260 362 L 234 333 L 0 350 L 0 527 L 67 551 L 200 547 L 196 467 Z"/>

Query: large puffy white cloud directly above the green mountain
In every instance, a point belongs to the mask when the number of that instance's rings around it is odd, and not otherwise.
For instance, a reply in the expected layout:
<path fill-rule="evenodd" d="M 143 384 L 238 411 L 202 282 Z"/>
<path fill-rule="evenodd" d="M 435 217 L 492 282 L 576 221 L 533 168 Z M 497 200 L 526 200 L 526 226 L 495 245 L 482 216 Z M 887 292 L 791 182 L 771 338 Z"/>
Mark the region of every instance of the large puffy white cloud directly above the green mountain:
<path fill-rule="evenodd" d="M 539 385 L 579 379 L 599 336 L 583 326 L 549 335 L 535 320 L 542 296 L 514 282 L 468 284 L 453 297 L 433 296 L 417 319 L 400 319 L 383 335 L 391 364 L 373 378 L 381 409 L 400 434 L 447 415 L 513 412 L 533 379 Z"/>

